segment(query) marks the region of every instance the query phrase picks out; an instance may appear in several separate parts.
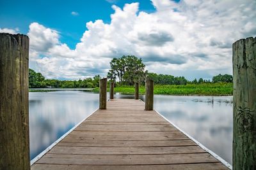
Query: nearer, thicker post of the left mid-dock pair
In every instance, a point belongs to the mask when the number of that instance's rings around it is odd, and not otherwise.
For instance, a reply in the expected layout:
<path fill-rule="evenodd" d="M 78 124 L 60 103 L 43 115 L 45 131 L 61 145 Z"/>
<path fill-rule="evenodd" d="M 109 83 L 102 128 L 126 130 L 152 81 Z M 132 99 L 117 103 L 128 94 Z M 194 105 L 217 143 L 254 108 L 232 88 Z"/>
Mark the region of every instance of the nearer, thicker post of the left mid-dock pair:
<path fill-rule="evenodd" d="M 100 110 L 106 110 L 107 109 L 107 83 L 108 78 L 102 78 L 100 79 Z"/>

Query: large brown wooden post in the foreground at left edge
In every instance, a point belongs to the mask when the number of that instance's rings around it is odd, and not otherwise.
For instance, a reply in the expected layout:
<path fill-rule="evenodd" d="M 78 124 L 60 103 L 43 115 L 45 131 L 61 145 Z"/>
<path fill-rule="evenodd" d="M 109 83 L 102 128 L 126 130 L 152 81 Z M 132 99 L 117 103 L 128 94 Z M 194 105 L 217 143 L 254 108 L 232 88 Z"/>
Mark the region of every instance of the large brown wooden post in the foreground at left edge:
<path fill-rule="evenodd" d="M 0 33 L 0 169 L 30 169 L 29 38 Z"/>

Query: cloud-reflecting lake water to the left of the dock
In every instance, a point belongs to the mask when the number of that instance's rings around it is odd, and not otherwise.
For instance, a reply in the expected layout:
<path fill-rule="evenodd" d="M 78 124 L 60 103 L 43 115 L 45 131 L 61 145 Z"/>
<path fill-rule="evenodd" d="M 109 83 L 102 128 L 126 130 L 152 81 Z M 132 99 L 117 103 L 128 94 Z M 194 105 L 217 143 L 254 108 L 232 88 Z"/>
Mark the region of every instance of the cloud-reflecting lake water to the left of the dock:
<path fill-rule="evenodd" d="M 99 107 L 99 94 L 81 91 L 30 92 L 31 159 Z"/>

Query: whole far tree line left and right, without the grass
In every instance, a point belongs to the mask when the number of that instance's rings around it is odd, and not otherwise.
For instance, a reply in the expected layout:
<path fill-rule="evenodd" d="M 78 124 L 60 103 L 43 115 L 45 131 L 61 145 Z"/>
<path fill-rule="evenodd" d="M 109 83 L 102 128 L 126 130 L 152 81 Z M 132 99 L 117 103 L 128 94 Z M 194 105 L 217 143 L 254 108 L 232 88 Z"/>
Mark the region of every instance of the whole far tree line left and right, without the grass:
<path fill-rule="evenodd" d="M 211 80 L 203 78 L 189 81 L 184 76 L 172 76 L 169 74 L 148 73 L 145 69 L 142 59 L 134 55 L 124 55 L 120 58 L 113 58 L 110 62 L 108 78 L 114 81 L 116 85 L 134 85 L 135 82 L 145 85 L 145 78 L 154 80 L 156 85 L 186 85 L 200 83 L 220 83 L 233 81 L 232 75 L 218 74 Z M 93 78 L 85 78 L 84 80 L 56 80 L 45 79 L 41 73 L 36 73 L 33 69 L 29 69 L 29 88 L 95 88 L 99 87 L 100 75 Z"/>

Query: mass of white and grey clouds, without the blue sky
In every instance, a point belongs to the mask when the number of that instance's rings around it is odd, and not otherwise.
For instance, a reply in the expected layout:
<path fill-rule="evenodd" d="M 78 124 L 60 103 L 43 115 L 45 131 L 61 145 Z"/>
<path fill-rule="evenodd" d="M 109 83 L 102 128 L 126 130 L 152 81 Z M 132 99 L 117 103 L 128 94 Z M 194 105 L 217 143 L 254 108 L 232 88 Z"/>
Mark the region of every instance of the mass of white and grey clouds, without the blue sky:
<path fill-rule="evenodd" d="M 106 76 L 113 57 L 136 55 L 150 72 L 211 78 L 232 74 L 232 43 L 256 36 L 253 0 L 152 0 L 152 5 L 152 13 L 140 11 L 139 3 L 113 5 L 111 22 L 87 22 L 74 50 L 58 31 L 32 23 L 31 66 L 47 78 Z"/>

